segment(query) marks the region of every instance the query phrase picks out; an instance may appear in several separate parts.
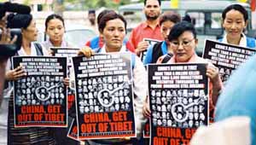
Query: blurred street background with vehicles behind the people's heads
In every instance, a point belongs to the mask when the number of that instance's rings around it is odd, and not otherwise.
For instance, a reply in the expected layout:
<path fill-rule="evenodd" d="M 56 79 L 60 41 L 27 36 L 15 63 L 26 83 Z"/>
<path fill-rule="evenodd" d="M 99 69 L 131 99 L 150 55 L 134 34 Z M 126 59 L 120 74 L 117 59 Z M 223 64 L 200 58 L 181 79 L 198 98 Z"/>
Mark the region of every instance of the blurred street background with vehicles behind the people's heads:
<path fill-rule="evenodd" d="M 133 27 L 144 20 L 143 0 L 0 0 L 0 2 L 23 3 L 31 6 L 32 15 L 37 20 L 38 42 L 45 40 L 44 20 L 49 14 L 61 14 L 66 23 L 68 42 L 74 46 L 84 43 L 96 35 L 92 30 L 88 12 L 93 9 L 96 16 L 103 9 L 115 9 L 128 21 L 127 38 Z M 189 14 L 195 23 L 200 38 L 201 51 L 204 38 L 216 39 L 223 35 L 221 13 L 231 3 L 241 3 L 248 11 L 247 35 L 256 38 L 256 0 L 162 0 L 162 11 L 175 10 L 182 16 Z"/>

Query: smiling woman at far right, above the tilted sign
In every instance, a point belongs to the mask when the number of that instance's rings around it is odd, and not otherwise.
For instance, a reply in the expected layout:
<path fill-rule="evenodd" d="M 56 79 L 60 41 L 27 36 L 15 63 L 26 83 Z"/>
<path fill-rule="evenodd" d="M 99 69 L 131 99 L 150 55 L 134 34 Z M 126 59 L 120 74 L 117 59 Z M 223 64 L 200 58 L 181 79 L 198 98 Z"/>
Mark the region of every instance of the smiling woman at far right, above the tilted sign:
<path fill-rule="evenodd" d="M 242 47 L 256 48 L 256 40 L 248 38 L 243 32 L 248 24 L 247 10 L 239 4 L 232 4 L 224 9 L 222 20 L 225 34 L 218 41 Z"/>

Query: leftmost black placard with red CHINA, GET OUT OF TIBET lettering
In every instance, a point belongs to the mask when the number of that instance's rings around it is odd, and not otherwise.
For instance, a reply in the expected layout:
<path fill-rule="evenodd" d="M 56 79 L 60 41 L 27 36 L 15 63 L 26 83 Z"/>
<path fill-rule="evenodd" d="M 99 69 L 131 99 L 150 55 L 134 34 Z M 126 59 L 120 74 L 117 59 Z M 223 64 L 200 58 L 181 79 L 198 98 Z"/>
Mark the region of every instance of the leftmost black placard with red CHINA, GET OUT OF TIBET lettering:
<path fill-rule="evenodd" d="M 14 82 L 15 127 L 67 127 L 67 59 L 17 56 L 13 67 L 26 76 Z"/>

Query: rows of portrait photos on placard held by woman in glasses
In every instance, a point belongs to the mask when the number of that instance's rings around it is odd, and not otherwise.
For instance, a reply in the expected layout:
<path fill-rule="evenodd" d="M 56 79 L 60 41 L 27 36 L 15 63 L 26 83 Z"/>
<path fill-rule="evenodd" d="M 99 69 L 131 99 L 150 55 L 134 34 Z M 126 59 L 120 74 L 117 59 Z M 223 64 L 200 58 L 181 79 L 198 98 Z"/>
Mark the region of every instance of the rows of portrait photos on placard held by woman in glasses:
<path fill-rule="evenodd" d="M 205 90 L 151 90 L 150 94 L 153 125 L 197 128 L 207 124 Z"/>

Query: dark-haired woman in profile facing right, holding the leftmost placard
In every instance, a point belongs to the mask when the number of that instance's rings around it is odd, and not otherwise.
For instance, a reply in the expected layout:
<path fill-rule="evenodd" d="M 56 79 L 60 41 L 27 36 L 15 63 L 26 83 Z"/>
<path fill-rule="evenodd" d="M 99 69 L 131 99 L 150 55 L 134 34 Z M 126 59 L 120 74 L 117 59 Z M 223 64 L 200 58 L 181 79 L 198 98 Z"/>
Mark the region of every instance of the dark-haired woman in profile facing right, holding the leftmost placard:
<path fill-rule="evenodd" d="M 20 56 L 37 56 L 47 55 L 47 50 L 40 44 L 33 42 L 38 38 L 38 29 L 36 22 L 31 14 L 13 14 L 9 16 L 10 28 L 21 28 L 22 45 L 16 55 Z M 10 61 L 7 66 L 5 78 L 8 81 L 13 81 L 22 78 L 26 75 L 22 67 L 16 67 L 10 70 Z M 11 91 L 9 99 L 9 115 L 8 115 L 8 144 L 55 144 L 47 128 L 15 128 L 14 127 L 14 96 L 13 87 L 9 85 Z M 7 95 L 7 94 L 6 94 Z M 6 119 L 7 120 L 7 119 Z"/>

